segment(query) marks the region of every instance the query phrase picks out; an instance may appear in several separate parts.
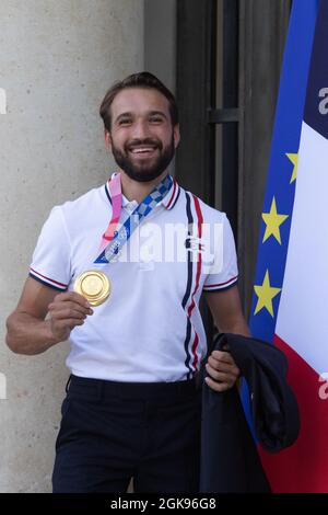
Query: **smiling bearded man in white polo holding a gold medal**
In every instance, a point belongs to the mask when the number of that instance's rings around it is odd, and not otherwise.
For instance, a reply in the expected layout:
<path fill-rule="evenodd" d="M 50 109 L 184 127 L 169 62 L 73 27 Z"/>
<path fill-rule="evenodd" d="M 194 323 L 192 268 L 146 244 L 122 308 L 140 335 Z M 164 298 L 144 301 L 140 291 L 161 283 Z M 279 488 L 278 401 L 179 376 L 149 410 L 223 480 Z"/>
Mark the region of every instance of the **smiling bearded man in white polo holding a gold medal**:
<path fill-rule="evenodd" d="M 132 477 L 137 492 L 197 492 L 202 290 L 221 331 L 248 334 L 231 228 L 168 175 L 178 112 L 154 76 L 115 84 L 101 116 L 119 173 L 52 209 L 7 342 L 33 355 L 70 339 L 54 492 L 125 492 Z M 185 260 L 142 258 L 138 236 L 150 220 L 161 230 L 183 224 Z M 223 241 L 204 238 L 206 225 L 221 227 Z M 207 245 L 222 251 L 218 270 L 202 262 Z M 128 256 L 136 249 L 137 260 Z M 238 377 L 227 352 L 212 353 L 206 368 L 216 391 Z"/>

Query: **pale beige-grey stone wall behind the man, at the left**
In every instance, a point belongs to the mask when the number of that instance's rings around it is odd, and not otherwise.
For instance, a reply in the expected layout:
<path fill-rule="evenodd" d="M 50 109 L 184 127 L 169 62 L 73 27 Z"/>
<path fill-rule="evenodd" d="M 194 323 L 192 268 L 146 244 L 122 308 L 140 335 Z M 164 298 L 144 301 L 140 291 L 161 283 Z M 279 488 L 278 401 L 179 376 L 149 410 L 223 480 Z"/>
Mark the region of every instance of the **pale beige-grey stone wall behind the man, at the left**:
<path fill-rule="evenodd" d="M 143 65 L 143 0 L 1 0 L 0 492 L 50 491 L 68 377 L 67 344 L 13 355 L 4 320 L 50 208 L 113 169 L 99 103 L 113 81 Z"/>

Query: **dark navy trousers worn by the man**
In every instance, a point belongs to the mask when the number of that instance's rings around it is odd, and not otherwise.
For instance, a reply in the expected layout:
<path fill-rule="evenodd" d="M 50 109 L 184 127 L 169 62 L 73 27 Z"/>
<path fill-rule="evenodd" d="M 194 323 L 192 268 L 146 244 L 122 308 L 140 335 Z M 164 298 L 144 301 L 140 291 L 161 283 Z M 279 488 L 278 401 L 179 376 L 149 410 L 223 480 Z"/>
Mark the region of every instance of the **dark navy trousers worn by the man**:
<path fill-rule="evenodd" d="M 201 396 L 195 380 L 127 384 L 72 376 L 54 493 L 195 493 Z"/>

